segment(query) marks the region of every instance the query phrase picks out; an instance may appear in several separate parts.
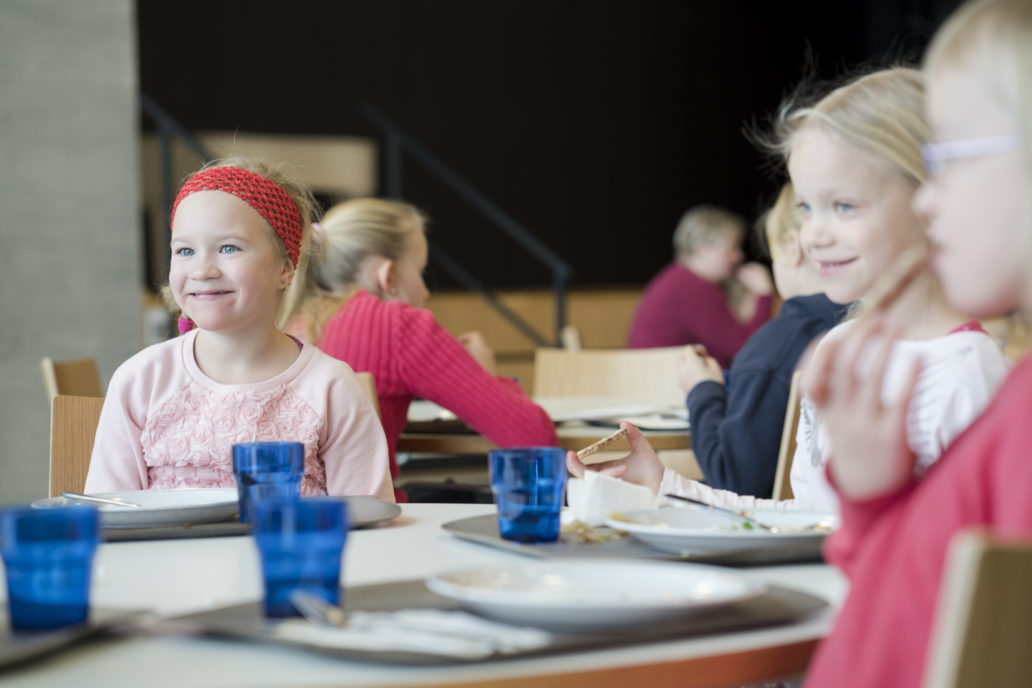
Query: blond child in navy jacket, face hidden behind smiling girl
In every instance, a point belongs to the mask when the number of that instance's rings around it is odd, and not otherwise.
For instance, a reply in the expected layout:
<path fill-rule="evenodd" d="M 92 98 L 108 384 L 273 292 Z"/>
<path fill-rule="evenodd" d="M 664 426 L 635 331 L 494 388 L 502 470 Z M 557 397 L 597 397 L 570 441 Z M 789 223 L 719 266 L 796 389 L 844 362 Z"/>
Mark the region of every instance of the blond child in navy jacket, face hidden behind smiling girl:
<path fill-rule="evenodd" d="M 678 369 L 688 393 L 691 450 L 706 484 L 739 494 L 771 496 L 793 372 L 806 348 L 846 314 L 820 293 L 816 266 L 800 242 L 800 215 L 784 185 L 763 220 L 774 283 L 784 302 L 749 337 L 724 386 L 716 359 L 686 347 Z"/>

